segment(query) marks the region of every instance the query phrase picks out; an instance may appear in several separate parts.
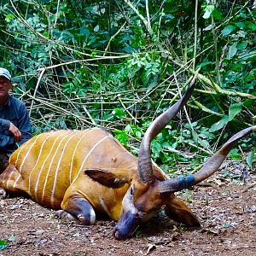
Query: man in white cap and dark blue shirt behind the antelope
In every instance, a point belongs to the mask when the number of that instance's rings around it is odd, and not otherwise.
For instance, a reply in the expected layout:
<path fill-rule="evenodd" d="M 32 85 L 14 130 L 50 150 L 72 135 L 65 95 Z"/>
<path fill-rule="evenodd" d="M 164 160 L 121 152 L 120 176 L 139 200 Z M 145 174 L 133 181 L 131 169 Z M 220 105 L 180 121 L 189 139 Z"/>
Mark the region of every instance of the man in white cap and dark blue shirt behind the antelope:
<path fill-rule="evenodd" d="M 25 104 L 9 95 L 13 87 L 9 71 L 0 67 L 0 174 L 9 156 L 32 137 L 32 126 Z"/>

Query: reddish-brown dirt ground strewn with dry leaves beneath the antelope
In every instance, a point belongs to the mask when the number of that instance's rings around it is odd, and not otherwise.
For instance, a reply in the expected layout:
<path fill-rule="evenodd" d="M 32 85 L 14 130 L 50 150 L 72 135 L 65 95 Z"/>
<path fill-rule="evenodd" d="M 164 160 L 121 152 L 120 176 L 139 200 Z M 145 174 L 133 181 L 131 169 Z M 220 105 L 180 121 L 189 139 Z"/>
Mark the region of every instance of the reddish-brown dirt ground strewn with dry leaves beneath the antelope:
<path fill-rule="evenodd" d="M 163 215 L 117 241 L 113 221 L 81 226 L 25 198 L 0 200 L 0 256 L 26 255 L 256 255 L 256 173 L 244 184 L 240 174 L 219 172 L 182 195 L 201 220 L 187 229 Z"/>

